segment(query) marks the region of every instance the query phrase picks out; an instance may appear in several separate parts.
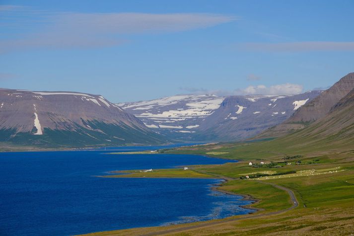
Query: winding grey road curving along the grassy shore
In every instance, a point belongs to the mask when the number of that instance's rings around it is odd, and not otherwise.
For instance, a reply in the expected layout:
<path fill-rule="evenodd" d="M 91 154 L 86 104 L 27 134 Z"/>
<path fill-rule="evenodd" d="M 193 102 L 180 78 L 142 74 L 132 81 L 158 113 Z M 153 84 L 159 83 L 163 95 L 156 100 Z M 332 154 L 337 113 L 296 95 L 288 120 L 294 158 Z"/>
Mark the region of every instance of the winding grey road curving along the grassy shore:
<path fill-rule="evenodd" d="M 200 171 L 200 172 L 202 172 L 202 171 Z M 212 174 L 212 173 L 209 173 L 209 172 L 205 172 L 205 173 Z M 225 179 L 225 180 L 233 179 L 233 178 L 222 176 L 222 175 L 216 175 L 216 174 L 212 174 L 212 175 L 217 176 L 218 178 L 221 178 L 221 179 Z M 243 216 L 243 217 L 240 217 L 240 218 L 236 218 L 236 219 L 226 219 L 226 220 L 221 220 L 221 221 L 216 221 L 216 222 L 205 222 L 205 223 L 201 223 L 201 224 L 194 225 L 194 226 L 185 226 L 185 227 L 180 227 L 180 228 L 177 228 L 177 229 L 161 230 L 161 231 L 158 231 L 158 232 L 144 234 L 142 236 L 156 236 L 156 235 L 176 234 L 176 233 L 180 233 L 180 232 L 184 232 L 184 231 L 195 230 L 195 229 L 202 228 L 202 227 L 209 227 L 209 226 L 213 226 L 213 225 L 224 224 L 224 223 L 227 223 L 227 222 L 235 222 L 235 221 L 245 220 L 245 219 L 254 219 L 254 218 L 260 218 L 260 217 L 264 217 L 264 216 L 272 216 L 272 215 L 277 215 L 277 214 L 280 214 L 280 213 L 283 213 L 283 212 L 287 212 L 287 211 L 289 211 L 291 209 L 294 209 L 295 207 L 297 207 L 299 205 L 299 203 L 298 203 L 298 201 L 297 201 L 297 199 L 295 197 L 295 194 L 294 194 L 294 192 L 292 190 L 290 190 L 288 188 L 285 188 L 283 186 L 280 186 L 278 184 L 275 184 L 275 183 L 264 182 L 264 181 L 261 181 L 261 180 L 255 180 L 255 181 L 258 181 L 258 182 L 261 182 L 261 183 L 264 183 L 264 184 L 269 184 L 269 185 L 272 185 L 273 187 L 276 187 L 278 189 L 286 191 L 289 194 L 289 196 L 290 196 L 292 206 L 287 208 L 287 209 L 280 210 L 280 211 L 269 212 L 269 213 L 264 213 L 264 214 L 259 214 L 259 215 L 250 214 L 250 215 L 246 215 L 246 216 Z"/>

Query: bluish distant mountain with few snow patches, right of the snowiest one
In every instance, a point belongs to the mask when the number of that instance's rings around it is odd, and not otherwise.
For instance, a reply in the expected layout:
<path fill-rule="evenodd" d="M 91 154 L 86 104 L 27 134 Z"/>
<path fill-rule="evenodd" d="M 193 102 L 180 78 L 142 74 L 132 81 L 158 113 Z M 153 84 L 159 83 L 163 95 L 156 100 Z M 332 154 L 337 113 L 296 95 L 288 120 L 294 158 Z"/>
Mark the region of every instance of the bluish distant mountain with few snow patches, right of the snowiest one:
<path fill-rule="evenodd" d="M 243 140 L 278 125 L 321 91 L 296 95 L 226 97 L 220 107 L 198 127 L 196 139 Z M 197 130 L 196 130 L 197 131 Z"/>

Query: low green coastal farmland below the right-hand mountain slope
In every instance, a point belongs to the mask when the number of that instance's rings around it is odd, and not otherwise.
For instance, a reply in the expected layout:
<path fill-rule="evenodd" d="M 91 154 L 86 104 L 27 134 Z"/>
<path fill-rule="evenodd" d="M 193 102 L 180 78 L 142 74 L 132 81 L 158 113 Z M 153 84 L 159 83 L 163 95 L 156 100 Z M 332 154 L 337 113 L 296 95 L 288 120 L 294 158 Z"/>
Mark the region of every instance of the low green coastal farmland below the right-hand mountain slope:
<path fill-rule="evenodd" d="M 127 174 L 109 176 L 224 178 L 227 181 L 218 187 L 219 190 L 252 196 L 256 201 L 251 207 L 259 210 L 254 214 L 216 221 L 89 235 L 354 234 L 354 151 L 332 146 L 332 150 L 323 151 L 319 148 L 298 152 L 293 147 L 272 146 L 272 141 L 266 141 L 165 150 L 165 153 L 192 153 L 241 161 L 222 165 L 189 166 L 189 170 L 176 168 L 146 173 L 140 170 L 124 171 Z M 249 165 L 250 161 L 252 165 Z M 240 178 L 246 175 L 253 175 L 255 178 Z M 292 191 L 298 206 L 292 207 L 288 192 L 276 186 Z"/>

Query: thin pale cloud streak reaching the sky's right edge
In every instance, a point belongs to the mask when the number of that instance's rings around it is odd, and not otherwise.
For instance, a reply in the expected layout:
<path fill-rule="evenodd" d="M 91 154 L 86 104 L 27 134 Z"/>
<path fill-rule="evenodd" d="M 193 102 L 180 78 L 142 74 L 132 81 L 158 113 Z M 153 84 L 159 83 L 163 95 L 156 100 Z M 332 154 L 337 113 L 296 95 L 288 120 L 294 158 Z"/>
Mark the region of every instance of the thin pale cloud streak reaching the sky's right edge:
<path fill-rule="evenodd" d="M 354 51 L 354 42 L 244 43 L 238 44 L 237 47 L 270 52 Z"/>

